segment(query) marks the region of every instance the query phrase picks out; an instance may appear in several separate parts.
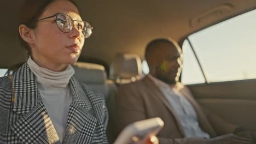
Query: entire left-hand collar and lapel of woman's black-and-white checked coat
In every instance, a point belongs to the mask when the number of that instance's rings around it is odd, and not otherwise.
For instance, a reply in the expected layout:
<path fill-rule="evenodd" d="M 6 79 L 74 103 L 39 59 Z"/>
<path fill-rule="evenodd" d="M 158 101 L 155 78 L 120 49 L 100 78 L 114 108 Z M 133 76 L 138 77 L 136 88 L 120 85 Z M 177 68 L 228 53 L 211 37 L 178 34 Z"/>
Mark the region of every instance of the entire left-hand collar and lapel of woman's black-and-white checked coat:
<path fill-rule="evenodd" d="M 13 111 L 18 119 L 11 127 L 14 134 L 24 143 L 60 143 L 40 98 L 36 77 L 27 63 L 10 78 L 13 81 Z"/>

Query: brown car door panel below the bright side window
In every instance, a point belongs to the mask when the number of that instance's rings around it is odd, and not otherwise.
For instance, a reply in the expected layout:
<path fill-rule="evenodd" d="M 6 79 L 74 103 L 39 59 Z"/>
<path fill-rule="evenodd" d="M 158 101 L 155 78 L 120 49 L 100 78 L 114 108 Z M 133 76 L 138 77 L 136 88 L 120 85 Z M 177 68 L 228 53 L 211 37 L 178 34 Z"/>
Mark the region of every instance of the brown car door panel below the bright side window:
<path fill-rule="evenodd" d="M 256 131 L 256 80 L 188 86 L 204 109 L 226 122 Z"/>

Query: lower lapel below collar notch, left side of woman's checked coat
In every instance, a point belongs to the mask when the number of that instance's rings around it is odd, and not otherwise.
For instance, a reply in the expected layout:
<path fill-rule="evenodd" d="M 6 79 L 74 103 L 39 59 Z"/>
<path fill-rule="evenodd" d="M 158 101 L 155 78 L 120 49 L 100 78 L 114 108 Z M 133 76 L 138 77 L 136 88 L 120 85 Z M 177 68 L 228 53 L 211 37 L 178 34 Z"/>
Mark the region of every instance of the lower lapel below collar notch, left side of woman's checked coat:
<path fill-rule="evenodd" d="M 11 129 L 22 143 L 60 144 L 59 137 L 43 103 L 33 107 L 30 112 L 15 122 Z"/>

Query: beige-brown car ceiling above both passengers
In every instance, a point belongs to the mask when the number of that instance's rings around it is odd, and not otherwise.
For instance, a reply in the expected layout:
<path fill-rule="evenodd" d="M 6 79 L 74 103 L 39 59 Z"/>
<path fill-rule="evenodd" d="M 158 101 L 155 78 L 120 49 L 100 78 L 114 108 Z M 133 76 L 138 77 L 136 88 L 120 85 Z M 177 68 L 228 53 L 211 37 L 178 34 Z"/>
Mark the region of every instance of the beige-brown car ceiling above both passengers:
<path fill-rule="evenodd" d="M 1 1 L 0 67 L 25 61 L 18 42 L 18 8 L 23 1 Z M 108 0 L 76 1 L 85 21 L 94 27 L 85 40 L 82 57 L 108 64 L 118 52 L 137 53 L 142 59 L 154 38 L 181 41 L 212 23 L 256 8 L 255 0 Z"/>

